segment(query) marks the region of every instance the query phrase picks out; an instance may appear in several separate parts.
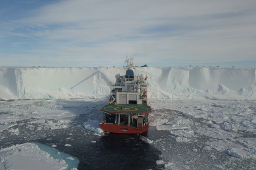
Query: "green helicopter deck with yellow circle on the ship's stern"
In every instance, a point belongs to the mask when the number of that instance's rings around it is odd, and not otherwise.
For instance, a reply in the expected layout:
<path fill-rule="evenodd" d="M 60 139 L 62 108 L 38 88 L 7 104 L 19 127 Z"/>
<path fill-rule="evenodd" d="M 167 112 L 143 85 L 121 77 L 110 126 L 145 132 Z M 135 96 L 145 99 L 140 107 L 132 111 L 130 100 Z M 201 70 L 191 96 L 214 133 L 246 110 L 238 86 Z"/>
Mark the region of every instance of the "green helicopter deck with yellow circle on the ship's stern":
<path fill-rule="evenodd" d="M 105 105 L 101 111 L 108 113 L 147 113 L 147 105 L 135 105 L 135 104 L 119 104 L 119 105 Z"/>

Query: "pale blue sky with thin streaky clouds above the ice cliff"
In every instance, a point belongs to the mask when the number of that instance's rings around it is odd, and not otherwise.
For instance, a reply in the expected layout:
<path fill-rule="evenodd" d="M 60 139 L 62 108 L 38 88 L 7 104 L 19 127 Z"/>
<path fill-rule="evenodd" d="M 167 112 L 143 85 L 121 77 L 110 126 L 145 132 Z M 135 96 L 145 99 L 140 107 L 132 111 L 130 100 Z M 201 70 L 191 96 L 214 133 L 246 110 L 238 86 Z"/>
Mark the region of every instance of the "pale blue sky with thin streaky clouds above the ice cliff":
<path fill-rule="evenodd" d="M 255 1 L 1 0 L 0 66 L 256 67 Z"/>

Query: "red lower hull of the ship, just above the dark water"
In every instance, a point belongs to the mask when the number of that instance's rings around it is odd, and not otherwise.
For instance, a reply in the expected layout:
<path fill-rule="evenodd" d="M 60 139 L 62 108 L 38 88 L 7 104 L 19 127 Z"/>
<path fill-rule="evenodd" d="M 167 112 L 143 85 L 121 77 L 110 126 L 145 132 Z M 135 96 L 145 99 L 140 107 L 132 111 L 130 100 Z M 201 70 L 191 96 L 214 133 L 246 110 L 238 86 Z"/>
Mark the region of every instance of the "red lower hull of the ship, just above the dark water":
<path fill-rule="evenodd" d="M 100 128 L 110 133 L 126 133 L 126 134 L 138 134 L 144 133 L 148 130 L 149 126 L 143 126 L 143 128 L 133 128 L 132 125 L 118 125 L 118 124 L 102 124 Z"/>

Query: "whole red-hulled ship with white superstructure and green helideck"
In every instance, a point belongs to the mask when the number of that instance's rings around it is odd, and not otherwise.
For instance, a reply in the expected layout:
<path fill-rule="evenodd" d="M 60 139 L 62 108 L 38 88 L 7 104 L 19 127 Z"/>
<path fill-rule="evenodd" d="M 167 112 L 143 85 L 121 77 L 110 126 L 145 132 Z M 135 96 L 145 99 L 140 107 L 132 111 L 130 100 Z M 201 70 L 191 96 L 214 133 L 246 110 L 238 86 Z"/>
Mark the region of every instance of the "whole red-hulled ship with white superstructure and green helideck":
<path fill-rule="evenodd" d="M 109 103 L 103 106 L 100 128 L 110 133 L 139 134 L 149 128 L 147 75 L 135 75 L 133 58 L 126 57 L 125 75 L 116 74 L 116 82 L 110 84 Z"/>

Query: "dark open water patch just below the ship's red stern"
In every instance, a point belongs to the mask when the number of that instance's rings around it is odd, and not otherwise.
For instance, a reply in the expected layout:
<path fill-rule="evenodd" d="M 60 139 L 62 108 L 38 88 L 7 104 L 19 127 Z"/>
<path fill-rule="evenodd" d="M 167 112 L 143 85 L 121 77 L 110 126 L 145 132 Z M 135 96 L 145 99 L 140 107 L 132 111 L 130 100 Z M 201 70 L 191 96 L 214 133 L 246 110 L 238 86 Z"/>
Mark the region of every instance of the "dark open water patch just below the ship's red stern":
<path fill-rule="evenodd" d="M 78 169 L 161 169 L 156 161 L 161 151 L 142 140 L 143 137 L 157 137 L 164 133 L 154 127 L 143 134 L 105 133 L 101 136 L 73 129 L 59 135 L 37 140 L 44 145 L 57 145 L 59 151 L 79 159 Z M 68 143 L 71 147 L 65 146 Z"/>

